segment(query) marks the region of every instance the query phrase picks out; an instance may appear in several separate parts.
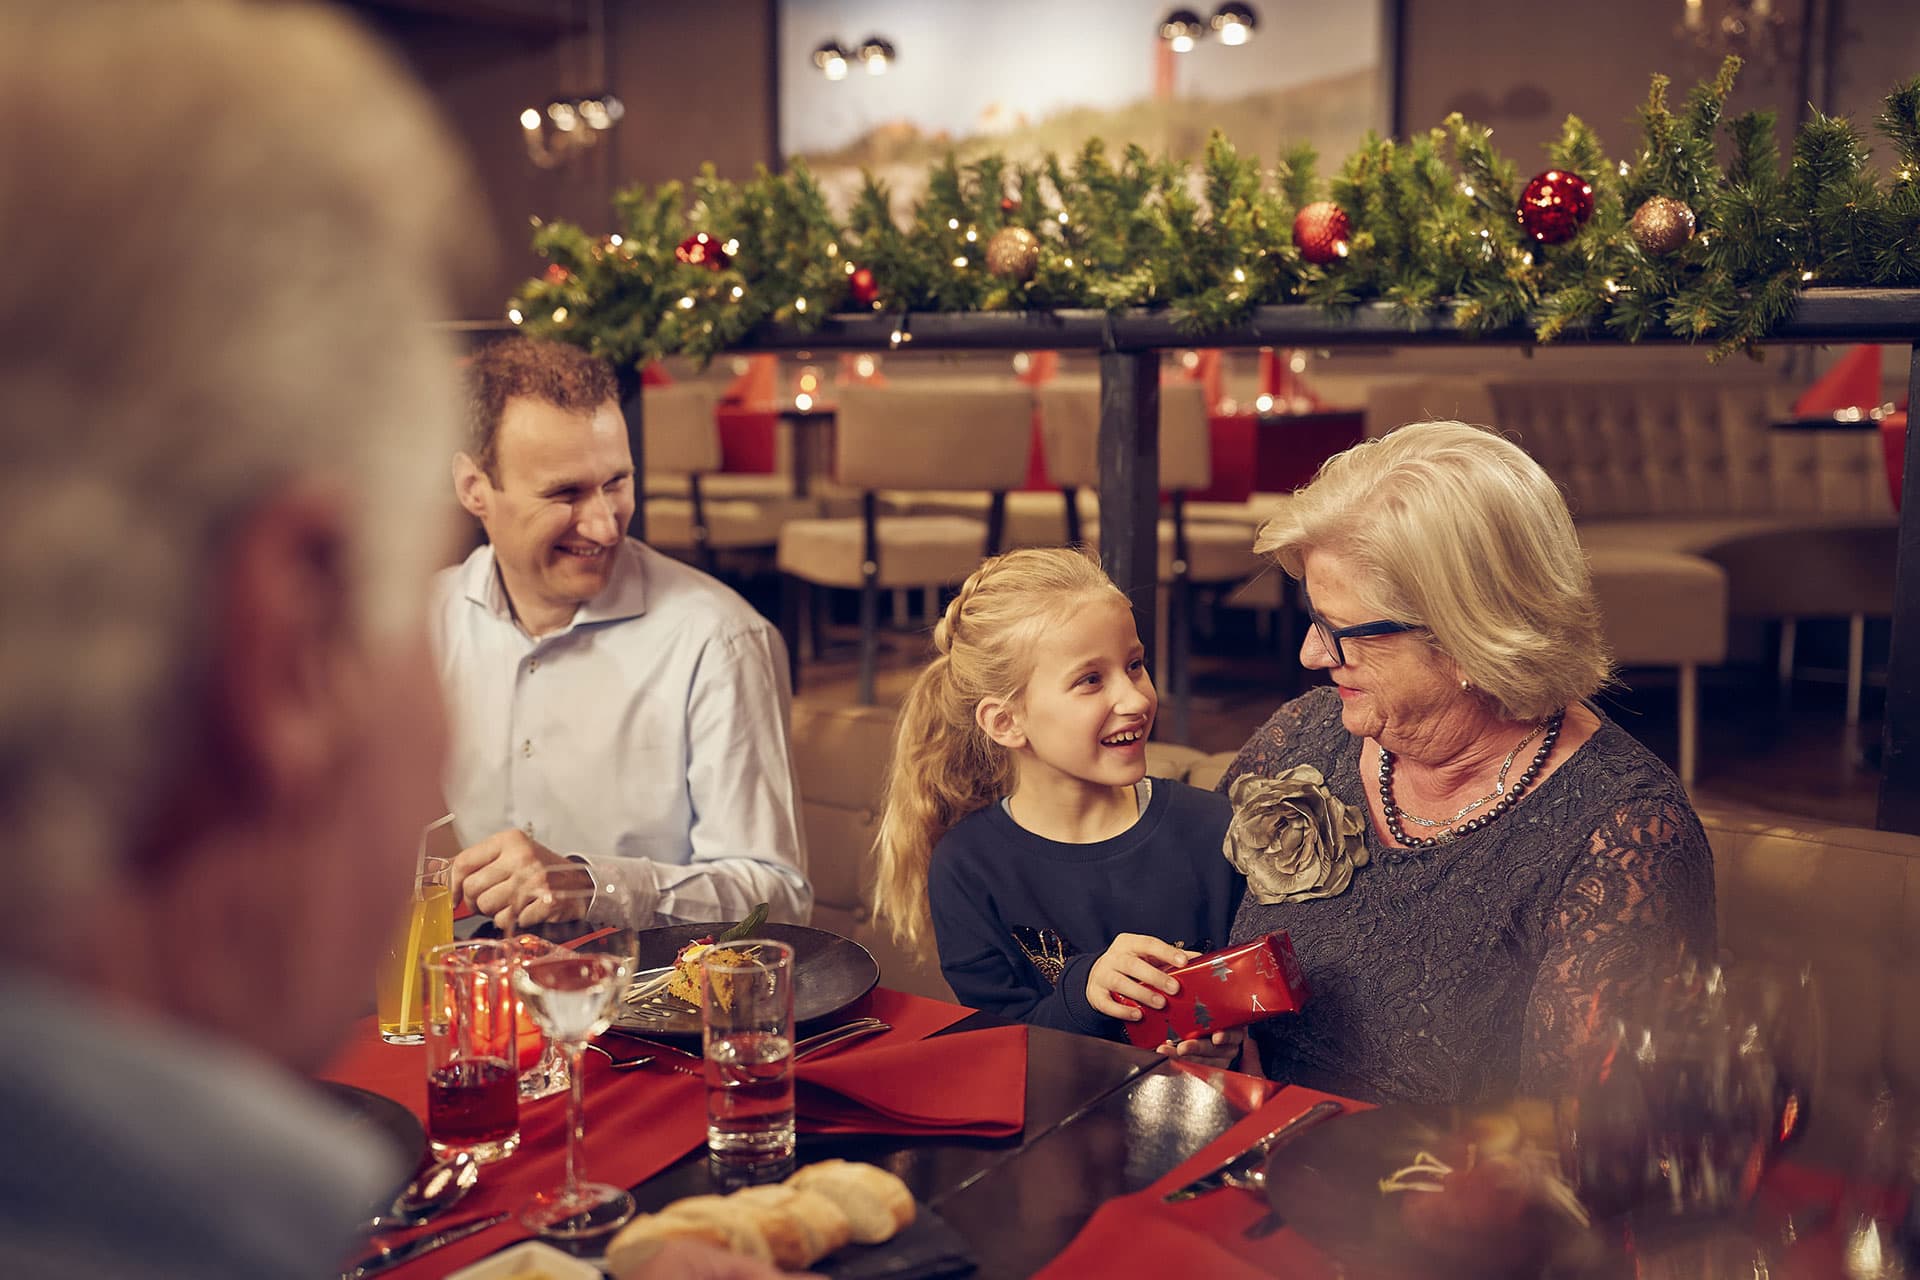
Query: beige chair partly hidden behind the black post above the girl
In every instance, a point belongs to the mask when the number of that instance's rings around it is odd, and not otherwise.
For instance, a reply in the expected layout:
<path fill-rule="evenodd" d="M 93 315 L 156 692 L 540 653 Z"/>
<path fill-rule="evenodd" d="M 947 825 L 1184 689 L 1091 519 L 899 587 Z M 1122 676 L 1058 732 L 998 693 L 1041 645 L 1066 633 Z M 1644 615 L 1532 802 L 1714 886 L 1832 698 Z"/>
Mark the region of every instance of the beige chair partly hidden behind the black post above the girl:
<path fill-rule="evenodd" d="M 1046 438 L 1046 472 L 1066 487 L 1100 487 L 1100 386 L 1087 380 L 1056 380 L 1039 390 L 1041 422 Z M 1196 524 L 1187 518 L 1187 493 L 1213 480 L 1212 436 L 1206 390 L 1198 382 L 1169 382 L 1160 388 L 1160 489 L 1167 495 L 1167 516 L 1160 520 L 1158 581 L 1167 597 L 1160 616 L 1156 652 L 1173 702 L 1173 741 L 1185 743 L 1192 712 L 1192 593 L 1194 587 L 1225 587 L 1252 578 L 1263 568 L 1254 555 L 1252 532 L 1242 526 Z M 1094 512 L 1098 505 L 1094 503 Z M 1085 530 L 1085 541 L 1100 543 L 1098 518 Z"/>

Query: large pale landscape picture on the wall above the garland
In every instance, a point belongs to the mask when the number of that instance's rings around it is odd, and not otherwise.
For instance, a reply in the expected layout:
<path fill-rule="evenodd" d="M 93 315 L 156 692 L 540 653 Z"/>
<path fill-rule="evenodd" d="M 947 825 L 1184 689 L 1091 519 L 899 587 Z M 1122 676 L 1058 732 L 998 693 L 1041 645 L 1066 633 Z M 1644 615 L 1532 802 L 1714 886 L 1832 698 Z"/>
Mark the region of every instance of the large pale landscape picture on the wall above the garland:
<path fill-rule="evenodd" d="M 1396 0 L 1185 10 L 1167 0 L 780 0 L 780 155 L 843 203 L 870 169 L 897 198 L 931 163 L 1071 157 L 1091 136 L 1190 159 L 1221 129 L 1323 171 L 1392 125 Z M 1187 27 L 1187 38 L 1164 27 Z"/>

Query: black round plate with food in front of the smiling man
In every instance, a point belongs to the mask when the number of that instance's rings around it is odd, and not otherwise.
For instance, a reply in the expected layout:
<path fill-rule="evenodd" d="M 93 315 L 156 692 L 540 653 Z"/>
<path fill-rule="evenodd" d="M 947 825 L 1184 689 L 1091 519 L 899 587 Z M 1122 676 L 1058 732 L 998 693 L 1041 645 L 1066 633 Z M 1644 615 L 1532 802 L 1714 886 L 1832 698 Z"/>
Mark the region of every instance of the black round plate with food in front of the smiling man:
<path fill-rule="evenodd" d="M 664 971 L 680 948 L 697 938 L 724 933 L 730 921 L 668 925 L 634 935 L 634 981 Z M 806 925 L 762 925 L 756 938 L 772 938 L 793 948 L 793 1021 L 831 1017 L 874 990 L 879 963 L 872 952 L 826 929 Z M 701 1011 L 678 996 L 660 994 L 647 1004 L 622 1004 L 612 1025 L 643 1036 L 697 1036 Z"/>

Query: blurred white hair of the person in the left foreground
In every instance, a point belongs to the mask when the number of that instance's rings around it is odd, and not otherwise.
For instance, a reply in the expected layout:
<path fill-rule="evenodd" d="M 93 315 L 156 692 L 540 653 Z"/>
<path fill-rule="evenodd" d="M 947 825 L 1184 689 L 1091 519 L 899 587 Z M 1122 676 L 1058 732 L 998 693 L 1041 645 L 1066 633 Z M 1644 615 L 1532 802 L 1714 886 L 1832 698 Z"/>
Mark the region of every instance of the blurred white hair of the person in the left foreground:
<path fill-rule="evenodd" d="M 457 439 L 468 180 L 346 19 L 223 0 L 0 13 L 0 823 L 10 890 L 111 875 L 204 706 L 225 537 L 357 501 L 371 633 L 420 608 Z M 19 896 L 25 890 L 27 896 Z"/>

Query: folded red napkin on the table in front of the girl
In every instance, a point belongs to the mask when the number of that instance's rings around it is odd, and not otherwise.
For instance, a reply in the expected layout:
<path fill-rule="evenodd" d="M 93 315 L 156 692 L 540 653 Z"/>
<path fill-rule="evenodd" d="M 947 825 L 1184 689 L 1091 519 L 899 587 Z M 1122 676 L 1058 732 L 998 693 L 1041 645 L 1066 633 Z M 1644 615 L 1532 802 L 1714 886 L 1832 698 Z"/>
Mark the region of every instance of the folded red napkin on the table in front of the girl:
<path fill-rule="evenodd" d="M 1027 1117 L 1027 1029 L 849 1048 L 801 1063 L 793 1102 L 810 1134 L 1008 1138 Z"/>

